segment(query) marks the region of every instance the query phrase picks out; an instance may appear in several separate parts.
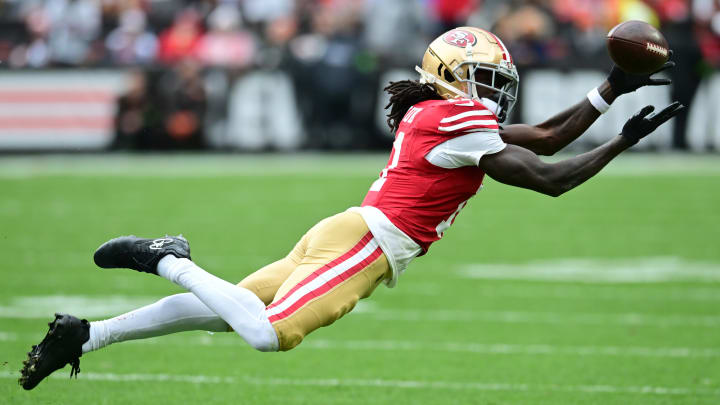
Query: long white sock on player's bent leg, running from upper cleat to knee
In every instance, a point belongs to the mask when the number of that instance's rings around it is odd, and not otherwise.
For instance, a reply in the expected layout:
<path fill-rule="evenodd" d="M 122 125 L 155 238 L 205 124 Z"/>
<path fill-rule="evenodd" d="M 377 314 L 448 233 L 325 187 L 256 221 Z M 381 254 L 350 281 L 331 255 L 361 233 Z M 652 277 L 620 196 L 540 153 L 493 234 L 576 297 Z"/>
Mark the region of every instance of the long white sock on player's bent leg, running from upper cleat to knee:
<path fill-rule="evenodd" d="M 195 294 L 255 349 L 278 350 L 277 334 L 267 318 L 265 304 L 252 291 L 172 255 L 163 257 L 157 270 L 160 276 Z"/>

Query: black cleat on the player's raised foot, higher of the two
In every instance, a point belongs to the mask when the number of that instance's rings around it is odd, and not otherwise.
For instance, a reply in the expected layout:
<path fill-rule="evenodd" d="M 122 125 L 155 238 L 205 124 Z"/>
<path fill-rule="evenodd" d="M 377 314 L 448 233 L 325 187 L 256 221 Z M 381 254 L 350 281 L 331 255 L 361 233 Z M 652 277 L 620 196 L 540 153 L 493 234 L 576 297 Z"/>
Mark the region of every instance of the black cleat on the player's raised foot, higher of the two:
<path fill-rule="evenodd" d="M 95 264 L 104 269 L 133 269 L 157 274 L 157 264 L 163 257 L 173 255 L 190 258 L 190 244 L 179 236 L 159 239 L 143 239 L 137 236 L 121 236 L 103 243 L 95 251 Z"/>

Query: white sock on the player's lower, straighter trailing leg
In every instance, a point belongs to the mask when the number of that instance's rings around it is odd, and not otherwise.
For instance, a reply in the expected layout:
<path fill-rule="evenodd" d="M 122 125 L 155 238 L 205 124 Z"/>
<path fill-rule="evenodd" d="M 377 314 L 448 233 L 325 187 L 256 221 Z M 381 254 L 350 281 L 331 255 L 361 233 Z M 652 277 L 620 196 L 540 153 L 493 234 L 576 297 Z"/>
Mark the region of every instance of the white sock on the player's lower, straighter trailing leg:
<path fill-rule="evenodd" d="M 90 322 L 90 339 L 83 353 L 109 344 L 188 330 L 226 332 L 228 325 L 196 296 L 185 293 L 104 321 Z"/>

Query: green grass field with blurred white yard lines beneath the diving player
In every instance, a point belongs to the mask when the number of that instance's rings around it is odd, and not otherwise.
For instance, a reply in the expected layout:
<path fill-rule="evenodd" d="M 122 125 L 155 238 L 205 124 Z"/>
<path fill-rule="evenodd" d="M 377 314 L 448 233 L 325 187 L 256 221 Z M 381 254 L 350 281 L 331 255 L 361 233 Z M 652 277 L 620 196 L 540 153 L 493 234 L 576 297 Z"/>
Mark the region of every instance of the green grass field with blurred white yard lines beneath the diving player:
<path fill-rule="evenodd" d="M 288 353 L 234 334 L 118 344 L 17 385 L 54 311 L 180 292 L 100 270 L 121 234 L 183 233 L 237 281 L 357 205 L 371 156 L 0 158 L 0 404 L 718 404 L 720 158 L 621 157 L 557 199 L 494 181 L 395 289 Z"/>

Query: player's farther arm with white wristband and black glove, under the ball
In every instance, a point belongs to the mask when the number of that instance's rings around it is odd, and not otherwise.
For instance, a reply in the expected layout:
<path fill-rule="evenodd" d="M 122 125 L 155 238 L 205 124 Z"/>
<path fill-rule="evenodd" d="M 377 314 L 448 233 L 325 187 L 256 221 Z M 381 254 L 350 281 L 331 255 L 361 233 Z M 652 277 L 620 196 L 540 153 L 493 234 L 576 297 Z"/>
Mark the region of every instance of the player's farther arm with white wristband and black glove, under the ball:
<path fill-rule="evenodd" d="M 672 83 L 670 79 L 653 79 L 652 76 L 673 66 L 675 62 L 667 62 L 649 75 L 625 73 L 615 66 L 607 80 L 597 87 L 596 94 L 592 94 L 594 90 L 591 91 L 579 103 L 538 125 L 504 126 L 500 136 L 505 143 L 522 146 L 538 155 L 553 155 L 582 135 L 600 117 L 601 111 L 606 111 L 619 96 L 643 86 Z"/>

